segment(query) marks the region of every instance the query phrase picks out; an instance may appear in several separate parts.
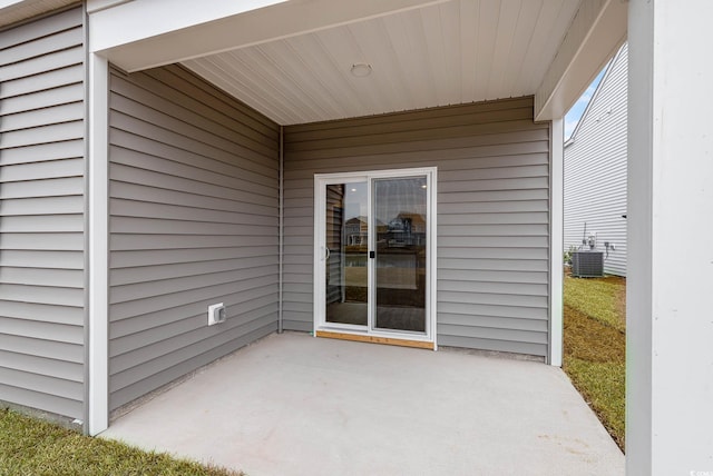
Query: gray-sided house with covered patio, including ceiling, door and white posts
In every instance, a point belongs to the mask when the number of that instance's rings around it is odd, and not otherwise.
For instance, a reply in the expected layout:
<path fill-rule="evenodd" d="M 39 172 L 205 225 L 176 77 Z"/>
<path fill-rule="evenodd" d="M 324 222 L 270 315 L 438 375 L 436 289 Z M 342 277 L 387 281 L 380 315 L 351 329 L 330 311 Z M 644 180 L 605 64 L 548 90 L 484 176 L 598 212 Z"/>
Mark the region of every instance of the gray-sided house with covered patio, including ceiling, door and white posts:
<path fill-rule="evenodd" d="M 711 16 L 0 0 L 0 400 L 95 435 L 280 330 L 560 365 L 561 118 L 631 33 L 627 465 L 710 469 Z M 411 237 L 343 259 L 362 216 Z"/>

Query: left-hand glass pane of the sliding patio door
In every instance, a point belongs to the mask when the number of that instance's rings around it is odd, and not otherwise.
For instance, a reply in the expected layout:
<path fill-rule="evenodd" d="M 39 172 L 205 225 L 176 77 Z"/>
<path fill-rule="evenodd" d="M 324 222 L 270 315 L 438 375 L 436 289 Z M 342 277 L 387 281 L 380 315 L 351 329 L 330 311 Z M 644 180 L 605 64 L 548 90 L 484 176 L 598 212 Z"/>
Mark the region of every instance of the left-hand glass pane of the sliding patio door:
<path fill-rule="evenodd" d="M 367 325 L 367 182 L 326 186 L 326 321 Z"/>

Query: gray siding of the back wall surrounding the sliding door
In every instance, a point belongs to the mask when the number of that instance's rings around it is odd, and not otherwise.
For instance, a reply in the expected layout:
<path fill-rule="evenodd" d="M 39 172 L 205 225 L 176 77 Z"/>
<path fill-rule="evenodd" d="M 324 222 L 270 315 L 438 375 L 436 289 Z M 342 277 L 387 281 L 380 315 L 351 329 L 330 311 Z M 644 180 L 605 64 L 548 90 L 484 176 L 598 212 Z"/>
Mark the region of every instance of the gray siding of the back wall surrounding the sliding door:
<path fill-rule="evenodd" d="M 311 330 L 314 173 L 438 167 L 438 343 L 547 355 L 549 125 L 533 99 L 285 128 L 285 329 Z"/>

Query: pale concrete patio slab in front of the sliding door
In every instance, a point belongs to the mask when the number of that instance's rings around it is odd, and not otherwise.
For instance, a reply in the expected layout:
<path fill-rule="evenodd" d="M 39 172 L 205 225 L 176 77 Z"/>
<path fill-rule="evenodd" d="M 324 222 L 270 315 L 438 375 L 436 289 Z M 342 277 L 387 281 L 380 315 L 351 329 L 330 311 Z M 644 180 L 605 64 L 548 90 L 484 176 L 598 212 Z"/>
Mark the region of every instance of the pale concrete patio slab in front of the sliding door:
<path fill-rule="evenodd" d="M 455 350 L 272 335 L 102 435 L 266 475 L 622 475 L 559 369 Z"/>

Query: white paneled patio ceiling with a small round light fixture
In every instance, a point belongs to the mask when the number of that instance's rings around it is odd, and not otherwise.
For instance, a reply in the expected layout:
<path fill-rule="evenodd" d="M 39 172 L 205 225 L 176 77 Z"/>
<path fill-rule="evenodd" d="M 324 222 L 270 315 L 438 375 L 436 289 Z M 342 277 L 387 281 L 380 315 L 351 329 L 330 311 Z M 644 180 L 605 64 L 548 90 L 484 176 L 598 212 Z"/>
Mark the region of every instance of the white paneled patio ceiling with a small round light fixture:
<path fill-rule="evenodd" d="M 281 125 L 529 96 L 578 8 L 451 0 L 183 65 Z"/>

